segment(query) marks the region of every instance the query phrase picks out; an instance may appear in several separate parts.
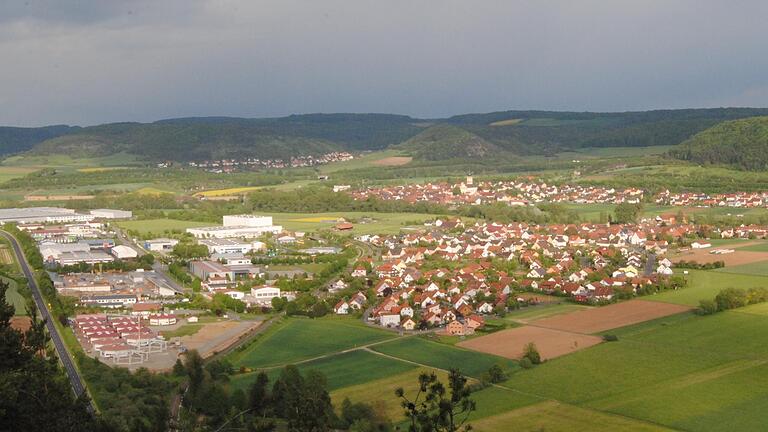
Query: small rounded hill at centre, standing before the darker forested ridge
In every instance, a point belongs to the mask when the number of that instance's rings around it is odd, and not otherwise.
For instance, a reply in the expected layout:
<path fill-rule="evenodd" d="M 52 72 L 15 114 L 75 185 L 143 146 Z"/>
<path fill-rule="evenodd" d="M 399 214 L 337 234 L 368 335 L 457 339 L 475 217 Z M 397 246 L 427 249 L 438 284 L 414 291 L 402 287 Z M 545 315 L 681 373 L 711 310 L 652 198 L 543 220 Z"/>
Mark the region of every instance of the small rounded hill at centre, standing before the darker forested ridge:
<path fill-rule="evenodd" d="M 502 151 L 472 132 L 447 124 L 429 127 L 394 148 L 420 160 L 484 158 Z"/>

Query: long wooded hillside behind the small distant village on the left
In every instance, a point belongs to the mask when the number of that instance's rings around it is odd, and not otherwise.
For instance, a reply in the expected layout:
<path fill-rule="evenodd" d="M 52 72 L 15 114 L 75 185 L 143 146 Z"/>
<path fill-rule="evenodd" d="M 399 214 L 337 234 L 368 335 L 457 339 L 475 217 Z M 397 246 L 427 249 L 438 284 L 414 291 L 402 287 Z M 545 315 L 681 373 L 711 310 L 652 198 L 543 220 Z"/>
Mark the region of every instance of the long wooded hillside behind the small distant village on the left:
<path fill-rule="evenodd" d="M 151 160 L 288 158 L 338 150 L 381 149 L 421 129 L 405 116 L 305 115 L 279 119 L 188 118 L 82 128 L 37 145 L 35 154 L 104 156 L 126 152 Z"/>

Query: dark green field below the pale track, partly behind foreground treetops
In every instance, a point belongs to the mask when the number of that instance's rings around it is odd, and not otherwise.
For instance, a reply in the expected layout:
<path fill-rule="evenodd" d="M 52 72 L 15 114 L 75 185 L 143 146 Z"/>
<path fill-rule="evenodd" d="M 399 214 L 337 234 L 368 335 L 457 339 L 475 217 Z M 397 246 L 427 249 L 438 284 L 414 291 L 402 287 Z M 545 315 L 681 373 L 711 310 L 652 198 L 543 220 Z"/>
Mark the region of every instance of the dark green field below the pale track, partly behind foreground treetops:
<path fill-rule="evenodd" d="M 334 391 L 407 373 L 416 369 L 417 366 L 360 349 L 301 363 L 298 367 L 302 373 L 308 370 L 322 372 L 328 380 L 328 389 Z M 267 370 L 271 382 L 274 382 L 280 375 L 281 370 L 282 368 Z M 256 378 L 257 373 L 233 376 L 231 380 L 233 388 L 247 389 Z"/>

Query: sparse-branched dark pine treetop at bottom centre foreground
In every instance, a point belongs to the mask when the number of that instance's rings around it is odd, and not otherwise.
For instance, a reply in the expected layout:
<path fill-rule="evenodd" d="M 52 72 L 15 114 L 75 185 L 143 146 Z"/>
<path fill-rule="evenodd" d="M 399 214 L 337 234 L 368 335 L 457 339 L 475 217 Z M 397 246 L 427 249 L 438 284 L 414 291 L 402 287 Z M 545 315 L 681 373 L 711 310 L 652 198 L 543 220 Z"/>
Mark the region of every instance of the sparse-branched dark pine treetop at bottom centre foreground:
<path fill-rule="evenodd" d="M 475 401 L 470 398 L 471 393 L 467 378 L 458 369 L 449 372 L 447 389 L 431 372 L 419 375 L 419 390 L 413 398 L 406 396 L 402 388 L 395 390 L 410 421 L 410 432 L 471 430 L 467 420 L 476 409 Z"/>

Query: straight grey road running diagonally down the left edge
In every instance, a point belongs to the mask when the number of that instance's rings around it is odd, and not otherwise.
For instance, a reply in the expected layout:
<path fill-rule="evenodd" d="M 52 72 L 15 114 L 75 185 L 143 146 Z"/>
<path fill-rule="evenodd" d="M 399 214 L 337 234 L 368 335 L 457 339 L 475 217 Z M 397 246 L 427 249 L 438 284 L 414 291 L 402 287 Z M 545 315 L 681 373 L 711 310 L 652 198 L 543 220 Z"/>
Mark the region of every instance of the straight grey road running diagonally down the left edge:
<path fill-rule="evenodd" d="M 64 340 L 61 338 L 58 329 L 54 325 L 54 318 L 48 309 L 48 303 L 46 303 L 43 299 L 43 295 L 40 292 L 40 287 L 37 286 L 35 274 L 32 272 L 32 269 L 30 269 L 27 258 L 24 256 L 24 252 L 21 250 L 21 246 L 19 245 L 18 240 L 16 240 L 14 236 L 5 231 L 0 231 L 0 235 L 8 239 L 8 241 L 11 243 L 11 246 L 13 247 L 13 251 L 16 254 L 16 259 L 19 262 L 19 266 L 24 272 L 24 276 L 26 276 L 29 283 L 29 288 L 30 291 L 32 291 L 32 298 L 35 300 L 35 305 L 37 305 L 37 309 L 40 311 L 40 315 L 43 317 L 43 319 L 45 319 L 45 325 L 48 328 L 48 333 L 51 335 L 53 346 L 56 348 L 56 353 L 59 355 L 59 360 L 64 366 L 64 371 L 69 377 L 69 382 L 72 384 L 72 390 L 74 390 L 76 396 L 80 397 L 85 393 L 83 379 L 80 377 L 80 372 L 75 367 L 75 362 L 72 360 L 72 356 L 69 354 L 67 346 L 64 344 Z M 89 405 L 89 410 L 91 412 L 94 411 L 92 402 Z"/>

